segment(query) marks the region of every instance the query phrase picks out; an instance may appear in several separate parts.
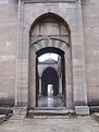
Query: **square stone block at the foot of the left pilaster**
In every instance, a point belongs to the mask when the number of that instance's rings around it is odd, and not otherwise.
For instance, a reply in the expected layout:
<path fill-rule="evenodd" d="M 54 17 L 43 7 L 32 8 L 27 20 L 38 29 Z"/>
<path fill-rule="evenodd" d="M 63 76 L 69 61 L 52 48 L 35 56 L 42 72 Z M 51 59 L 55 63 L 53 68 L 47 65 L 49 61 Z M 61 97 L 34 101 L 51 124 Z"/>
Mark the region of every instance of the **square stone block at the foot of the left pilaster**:
<path fill-rule="evenodd" d="M 27 113 L 26 107 L 14 107 L 12 119 L 24 119 L 26 117 L 26 113 Z"/>

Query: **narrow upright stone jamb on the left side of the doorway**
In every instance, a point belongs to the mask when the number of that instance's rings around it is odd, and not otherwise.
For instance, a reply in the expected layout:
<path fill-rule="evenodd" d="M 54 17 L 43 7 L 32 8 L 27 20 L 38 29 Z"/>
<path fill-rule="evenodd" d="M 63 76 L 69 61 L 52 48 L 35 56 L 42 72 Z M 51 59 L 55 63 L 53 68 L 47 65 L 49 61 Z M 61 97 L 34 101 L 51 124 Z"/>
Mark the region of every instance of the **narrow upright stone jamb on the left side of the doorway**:
<path fill-rule="evenodd" d="M 36 52 L 34 46 L 29 47 L 29 82 L 28 82 L 28 105 L 36 107 Z"/>

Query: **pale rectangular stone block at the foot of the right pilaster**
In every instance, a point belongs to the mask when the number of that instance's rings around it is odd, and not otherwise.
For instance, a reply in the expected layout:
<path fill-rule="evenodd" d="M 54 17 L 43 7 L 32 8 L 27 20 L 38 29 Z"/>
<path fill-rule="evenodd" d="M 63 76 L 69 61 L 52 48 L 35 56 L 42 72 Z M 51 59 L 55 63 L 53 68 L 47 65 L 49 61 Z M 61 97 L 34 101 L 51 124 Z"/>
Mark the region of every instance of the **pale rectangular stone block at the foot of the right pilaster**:
<path fill-rule="evenodd" d="M 75 113 L 78 116 L 88 116 L 89 107 L 88 106 L 75 106 Z"/>

